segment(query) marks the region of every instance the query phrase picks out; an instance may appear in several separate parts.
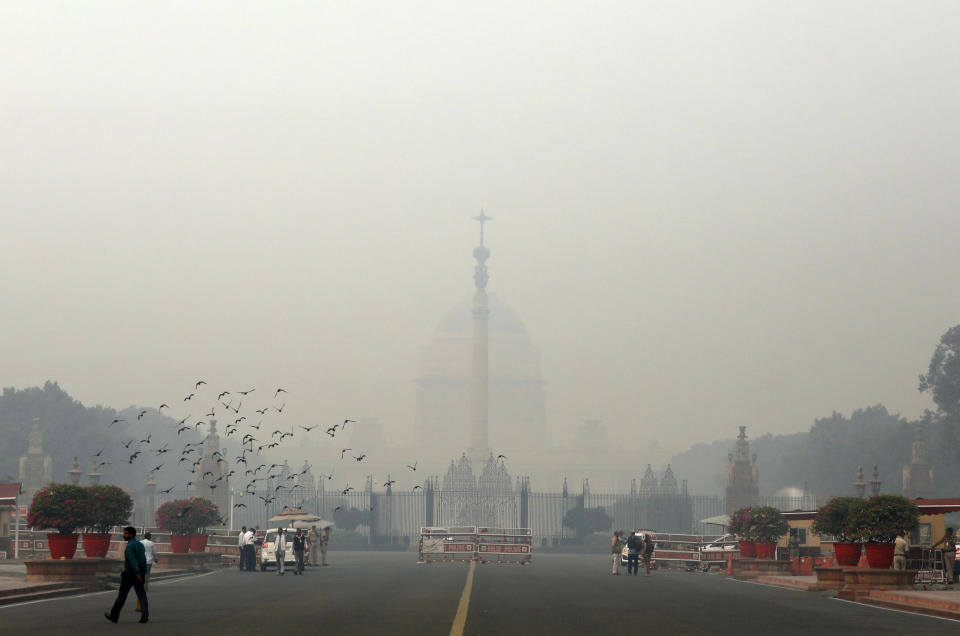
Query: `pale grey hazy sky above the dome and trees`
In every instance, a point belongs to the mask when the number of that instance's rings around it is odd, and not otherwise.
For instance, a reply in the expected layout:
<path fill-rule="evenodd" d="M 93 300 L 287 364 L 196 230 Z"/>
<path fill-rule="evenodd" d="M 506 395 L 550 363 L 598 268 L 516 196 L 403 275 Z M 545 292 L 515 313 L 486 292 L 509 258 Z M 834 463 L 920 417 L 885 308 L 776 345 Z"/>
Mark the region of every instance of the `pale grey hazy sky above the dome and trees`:
<path fill-rule="evenodd" d="M 407 441 L 484 207 L 560 442 L 931 405 L 960 5 L 473 4 L 0 4 L 0 384 Z"/>

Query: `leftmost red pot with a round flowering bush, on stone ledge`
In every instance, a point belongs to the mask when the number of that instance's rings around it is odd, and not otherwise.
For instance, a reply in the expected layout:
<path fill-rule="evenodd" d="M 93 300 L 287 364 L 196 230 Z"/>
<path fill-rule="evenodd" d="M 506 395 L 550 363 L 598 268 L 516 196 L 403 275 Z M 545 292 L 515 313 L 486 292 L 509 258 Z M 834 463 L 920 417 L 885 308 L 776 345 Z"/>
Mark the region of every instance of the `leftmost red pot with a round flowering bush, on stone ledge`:
<path fill-rule="evenodd" d="M 54 529 L 47 546 L 54 559 L 72 559 L 77 551 L 77 528 L 88 525 L 87 489 L 73 484 L 51 484 L 37 491 L 27 512 L 27 525 L 35 530 Z"/>

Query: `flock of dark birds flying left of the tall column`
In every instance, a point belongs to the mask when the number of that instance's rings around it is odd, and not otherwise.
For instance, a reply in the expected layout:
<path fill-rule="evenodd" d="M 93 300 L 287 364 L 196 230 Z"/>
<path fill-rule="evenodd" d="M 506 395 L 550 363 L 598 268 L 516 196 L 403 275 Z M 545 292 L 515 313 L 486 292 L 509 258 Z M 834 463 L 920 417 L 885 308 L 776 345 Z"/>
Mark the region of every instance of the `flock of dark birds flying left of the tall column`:
<path fill-rule="evenodd" d="M 183 403 L 184 404 L 198 403 L 204 397 L 204 393 L 206 393 L 206 390 L 202 388 L 206 386 L 206 384 L 207 384 L 206 381 L 198 380 L 194 384 L 193 391 L 189 395 L 183 398 L 182 400 Z M 262 428 L 264 425 L 264 418 L 266 418 L 268 414 L 274 411 L 277 414 L 283 413 L 283 410 L 286 407 L 286 403 L 284 402 L 279 406 L 277 404 L 278 404 L 278 400 L 280 399 L 280 394 L 282 393 L 286 395 L 287 391 L 282 387 L 277 388 L 273 394 L 273 404 L 255 409 L 254 411 L 250 412 L 251 415 L 252 413 L 256 413 L 258 416 L 260 416 L 259 418 L 257 418 L 259 420 L 258 423 L 253 424 L 252 421 L 248 420 L 246 415 L 242 414 L 242 411 L 244 411 L 244 407 L 243 407 L 244 400 L 245 399 L 249 400 L 250 398 L 248 398 L 247 396 L 251 395 L 255 391 L 256 389 L 248 389 L 246 391 L 237 391 L 236 393 L 231 393 L 230 391 L 221 391 L 216 397 L 217 403 L 219 404 L 219 406 L 215 405 L 211 407 L 210 410 L 204 414 L 204 417 L 206 418 L 216 417 L 218 409 L 220 410 L 221 413 L 225 415 L 232 413 L 232 415 L 228 415 L 229 417 L 236 416 L 233 418 L 232 423 L 228 423 L 226 425 L 224 433 L 227 437 L 240 434 L 241 427 L 246 427 L 248 429 L 246 432 L 242 434 L 240 438 L 240 447 L 241 447 L 240 454 L 234 459 L 233 463 L 238 467 L 240 464 L 243 464 L 244 466 L 244 470 L 241 475 L 243 477 L 243 480 L 246 480 L 247 482 L 246 486 L 244 487 L 244 492 L 246 494 L 256 496 L 258 499 L 260 499 L 263 502 L 264 506 L 266 507 L 266 506 L 269 506 L 275 500 L 277 500 L 281 490 L 286 489 L 289 491 L 293 491 L 296 488 L 304 488 L 304 486 L 302 486 L 301 484 L 294 484 L 291 486 L 289 485 L 289 482 L 296 480 L 296 478 L 301 475 L 307 474 L 311 470 L 311 467 L 307 466 L 306 468 L 304 468 L 304 470 L 298 473 L 292 473 L 284 476 L 281 473 L 274 472 L 275 469 L 278 469 L 278 468 L 283 469 L 284 464 L 259 463 L 255 468 L 250 468 L 248 464 L 248 459 L 251 461 L 255 461 L 253 460 L 253 458 L 260 456 L 264 450 L 278 448 L 285 439 L 294 437 L 295 428 L 300 428 L 305 433 L 311 433 L 311 431 L 319 428 L 320 425 L 314 424 L 312 426 L 297 426 L 297 427 L 291 426 L 289 432 L 276 428 L 270 433 L 270 436 L 268 438 L 261 437 L 266 433 L 266 430 L 267 430 L 265 428 Z M 169 412 L 170 406 L 168 404 L 161 404 L 159 407 L 157 407 L 157 413 L 160 415 L 167 415 L 167 413 L 164 413 L 165 410 Z M 146 416 L 149 412 L 150 412 L 149 410 L 140 410 L 139 413 L 137 414 L 137 420 L 138 421 L 142 420 L 144 416 Z M 190 432 L 190 431 L 200 432 L 200 427 L 207 423 L 205 420 L 200 420 L 200 419 L 194 422 L 191 422 L 192 417 L 193 417 L 192 415 L 187 415 L 183 419 L 178 420 L 176 422 L 175 427 L 176 427 L 176 433 L 178 437 L 185 432 Z M 126 419 L 119 418 L 119 417 L 114 418 L 114 420 L 110 422 L 110 424 L 108 424 L 108 428 L 113 426 L 114 424 L 118 424 L 122 422 L 126 422 Z M 346 430 L 348 424 L 352 424 L 355 422 L 356 420 L 351 420 L 349 418 L 344 419 L 342 423 L 334 424 L 333 426 L 328 427 L 324 432 L 327 435 L 329 435 L 331 438 L 335 438 L 339 433 L 342 433 L 344 430 Z M 164 443 L 159 446 L 154 445 L 153 447 L 151 447 L 151 444 L 153 443 L 152 438 L 153 438 L 153 433 L 144 436 L 144 438 L 140 440 L 130 439 L 125 442 L 122 442 L 121 444 L 125 449 L 124 453 L 129 453 L 129 455 L 125 458 L 126 461 L 130 464 L 133 464 L 138 460 L 142 461 L 141 458 L 147 458 L 150 455 L 153 455 L 155 458 L 160 458 L 161 456 L 166 455 L 167 453 L 174 450 L 169 447 L 169 443 Z M 131 449 L 134 443 L 139 444 L 139 446 Z M 180 457 L 178 458 L 176 465 L 180 466 L 181 464 L 189 462 L 191 465 L 190 470 L 194 474 L 196 474 L 201 468 L 207 468 L 207 466 L 203 465 L 203 451 L 202 451 L 203 445 L 204 445 L 204 442 L 202 440 L 199 442 L 187 442 L 184 445 L 183 449 L 180 451 Z M 353 451 L 352 448 L 341 449 L 340 460 L 345 461 L 347 458 L 347 453 L 351 451 Z M 111 463 L 106 460 L 99 461 L 99 458 L 101 457 L 103 452 L 104 452 L 103 449 L 101 449 L 99 452 L 93 455 L 93 457 L 96 458 L 95 462 L 96 462 L 97 468 L 100 468 L 102 466 L 105 466 Z M 194 453 L 197 454 L 196 458 L 192 457 Z M 216 457 L 216 463 L 218 465 L 227 461 L 226 458 L 223 457 L 220 449 L 214 450 L 211 453 L 211 456 Z M 365 453 L 354 455 L 351 452 L 349 457 L 353 458 L 353 460 L 357 462 L 362 462 L 365 459 L 367 459 L 367 455 Z M 505 459 L 505 457 L 506 457 L 505 455 L 499 455 L 498 459 Z M 150 467 L 149 472 L 151 473 L 159 472 L 165 466 L 167 466 L 168 461 L 169 460 L 161 461 L 156 466 Z M 408 468 L 411 471 L 416 471 L 418 463 L 419 461 L 415 461 L 413 464 L 407 464 L 406 468 Z M 239 468 L 237 470 L 239 470 Z M 217 473 L 220 473 L 219 476 L 216 473 L 214 473 L 214 471 L 212 470 L 203 470 L 203 472 L 199 476 L 198 481 L 203 483 L 208 488 L 216 489 L 224 485 L 223 482 L 228 480 L 230 477 L 237 475 L 238 474 L 237 470 L 230 470 L 229 472 L 223 472 L 218 470 Z M 264 471 L 262 475 L 260 474 L 261 471 Z M 327 479 L 329 481 L 333 479 L 333 473 L 334 471 L 331 471 L 329 475 L 321 474 L 320 477 L 321 479 Z M 197 479 L 197 478 L 195 477 L 194 479 Z M 279 483 L 276 487 L 274 487 L 272 492 L 266 492 L 266 490 L 262 490 L 260 492 L 263 492 L 264 494 L 263 495 L 259 494 L 257 491 L 257 482 L 265 482 L 265 485 L 266 485 L 266 484 L 272 483 L 271 480 L 280 480 L 281 483 Z M 388 479 L 383 484 L 383 486 L 390 487 L 395 483 L 397 483 L 396 480 Z M 185 488 L 190 488 L 191 486 L 196 486 L 196 485 L 198 484 L 195 483 L 194 481 L 188 481 L 185 484 Z M 169 494 L 175 488 L 176 486 L 171 486 L 170 488 L 161 490 L 160 492 L 164 494 Z M 421 486 L 414 486 L 413 489 L 418 490 L 420 488 Z M 347 485 L 342 489 L 341 494 L 346 495 L 352 490 L 354 490 L 354 488 Z M 246 504 L 237 503 L 237 504 L 234 504 L 234 508 L 246 508 Z M 336 510 L 340 510 L 341 508 L 342 506 L 338 507 Z M 370 509 L 373 510 L 372 507 Z"/>

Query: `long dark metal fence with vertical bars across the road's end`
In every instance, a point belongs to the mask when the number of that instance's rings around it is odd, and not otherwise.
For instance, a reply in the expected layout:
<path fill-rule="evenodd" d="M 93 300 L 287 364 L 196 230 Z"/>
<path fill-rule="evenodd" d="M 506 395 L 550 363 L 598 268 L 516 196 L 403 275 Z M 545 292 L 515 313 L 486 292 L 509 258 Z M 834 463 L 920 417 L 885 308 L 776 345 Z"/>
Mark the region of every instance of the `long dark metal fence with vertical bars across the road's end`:
<path fill-rule="evenodd" d="M 158 495 L 156 505 L 190 494 L 172 491 Z M 801 497 L 766 497 L 758 503 L 781 510 L 814 505 L 809 498 Z M 229 505 L 231 510 L 223 511 L 225 526 L 266 528 L 270 525 L 267 519 L 282 512 L 284 507 L 298 507 L 334 522 L 338 528 L 355 530 L 372 543 L 401 542 L 404 537 L 409 541 L 417 537 L 424 526 L 465 525 L 526 527 L 533 530 L 538 543 L 543 539 L 558 543 L 577 537 L 582 528 L 587 527 L 580 524 L 589 523 L 590 515 L 595 514 L 589 509 L 596 508 L 610 518 L 612 528 L 719 534 L 722 528 L 700 521 L 726 512 L 726 501 L 722 496 L 589 492 L 568 495 L 530 492 L 522 488 L 512 492 L 451 491 L 436 488 L 430 482 L 427 488 L 416 491 L 365 489 L 342 494 L 298 488 L 291 492 L 274 492 L 271 496 L 234 492 Z"/>

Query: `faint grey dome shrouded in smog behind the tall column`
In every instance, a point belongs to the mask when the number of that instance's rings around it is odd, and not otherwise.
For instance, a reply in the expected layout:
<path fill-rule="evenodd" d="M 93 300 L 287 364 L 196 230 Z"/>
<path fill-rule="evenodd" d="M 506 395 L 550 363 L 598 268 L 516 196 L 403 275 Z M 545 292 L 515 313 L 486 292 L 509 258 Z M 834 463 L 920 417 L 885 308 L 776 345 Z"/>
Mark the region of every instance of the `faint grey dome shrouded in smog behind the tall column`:
<path fill-rule="evenodd" d="M 497 453 L 549 445 L 540 351 L 517 313 L 489 297 L 489 443 Z M 467 446 L 474 347 L 472 302 L 451 309 L 421 348 L 416 383 L 415 443 L 458 453 Z"/>

